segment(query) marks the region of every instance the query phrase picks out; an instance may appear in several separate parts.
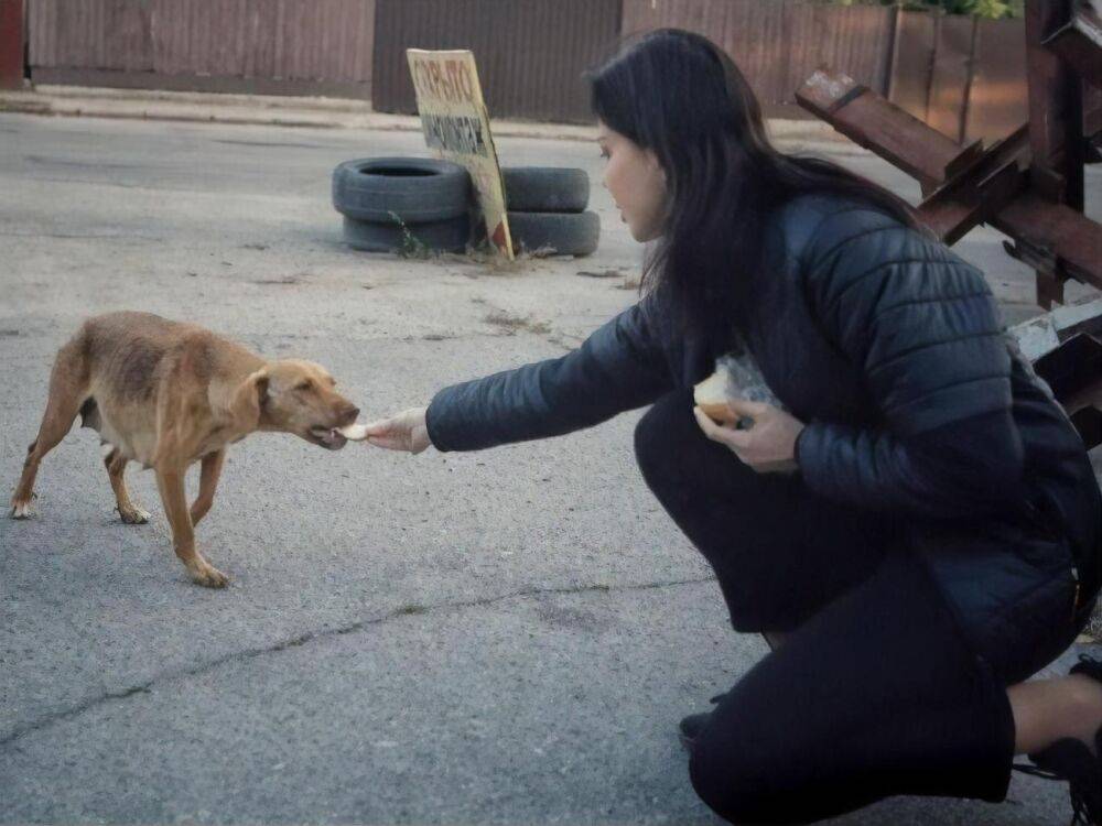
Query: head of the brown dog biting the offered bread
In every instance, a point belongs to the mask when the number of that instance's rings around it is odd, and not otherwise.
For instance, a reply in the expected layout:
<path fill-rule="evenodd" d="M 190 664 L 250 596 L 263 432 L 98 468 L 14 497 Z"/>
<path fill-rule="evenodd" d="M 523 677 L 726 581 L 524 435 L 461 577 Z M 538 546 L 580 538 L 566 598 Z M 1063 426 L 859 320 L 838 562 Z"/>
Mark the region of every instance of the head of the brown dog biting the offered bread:
<path fill-rule="evenodd" d="M 359 407 L 336 392 L 336 381 L 313 361 L 271 361 L 246 384 L 257 400 L 261 430 L 293 433 L 329 450 L 339 450 L 347 442 L 336 428 L 359 415 Z"/>

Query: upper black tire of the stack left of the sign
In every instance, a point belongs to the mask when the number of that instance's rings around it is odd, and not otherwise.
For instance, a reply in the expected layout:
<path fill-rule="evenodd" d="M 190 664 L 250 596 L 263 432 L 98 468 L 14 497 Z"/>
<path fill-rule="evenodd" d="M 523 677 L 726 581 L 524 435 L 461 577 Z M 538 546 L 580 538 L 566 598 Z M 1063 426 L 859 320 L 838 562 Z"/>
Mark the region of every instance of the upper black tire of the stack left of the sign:
<path fill-rule="evenodd" d="M 425 224 L 465 216 L 471 175 L 431 157 L 361 157 L 333 171 L 333 206 L 348 218 Z"/>

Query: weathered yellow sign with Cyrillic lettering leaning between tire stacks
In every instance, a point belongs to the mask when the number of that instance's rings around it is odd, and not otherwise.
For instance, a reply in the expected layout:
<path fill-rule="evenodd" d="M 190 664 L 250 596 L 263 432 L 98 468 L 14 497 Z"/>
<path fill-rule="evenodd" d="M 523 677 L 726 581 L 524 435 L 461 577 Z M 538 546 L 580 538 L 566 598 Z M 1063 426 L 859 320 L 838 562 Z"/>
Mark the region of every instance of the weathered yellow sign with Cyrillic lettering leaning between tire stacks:
<path fill-rule="evenodd" d="M 489 131 L 489 115 L 478 85 L 475 56 L 466 50 L 407 48 L 421 128 L 430 149 L 471 173 L 486 236 L 512 260 L 512 237 L 505 210 L 505 184 Z"/>

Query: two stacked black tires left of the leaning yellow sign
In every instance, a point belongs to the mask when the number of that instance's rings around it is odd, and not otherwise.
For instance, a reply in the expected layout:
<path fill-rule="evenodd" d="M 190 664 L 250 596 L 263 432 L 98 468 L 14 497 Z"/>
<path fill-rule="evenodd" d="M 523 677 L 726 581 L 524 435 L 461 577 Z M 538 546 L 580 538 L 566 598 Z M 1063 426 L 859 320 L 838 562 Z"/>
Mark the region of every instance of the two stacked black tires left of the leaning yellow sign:
<path fill-rule="evenodd" d="M 333 171 L 344 239 L 370 252 L 463 252 L 471 241 L 471 176 L 429 157 L 361 157 Z"/>

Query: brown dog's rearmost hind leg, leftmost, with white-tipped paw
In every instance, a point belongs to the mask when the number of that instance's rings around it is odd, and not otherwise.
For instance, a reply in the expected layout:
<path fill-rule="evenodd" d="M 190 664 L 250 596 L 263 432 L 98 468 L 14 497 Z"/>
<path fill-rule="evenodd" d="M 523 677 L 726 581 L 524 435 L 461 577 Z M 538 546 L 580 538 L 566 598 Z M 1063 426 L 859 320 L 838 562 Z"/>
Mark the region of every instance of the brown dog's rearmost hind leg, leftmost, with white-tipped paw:
<path fill-rule="evenodd" d="M 39 436 L 26 448 L 23 475 L 11 497 L 11 515 L 25 519 L 31 515 L 34 497 L 34 478 L 42 457 L 65 438 L 88 392 L 88 371 L 84 360 L 84 341 L 78 334 L 57 351 L 53 372 L 50 374 L 50 395 L 46 410 L 39 425 Z"/>

